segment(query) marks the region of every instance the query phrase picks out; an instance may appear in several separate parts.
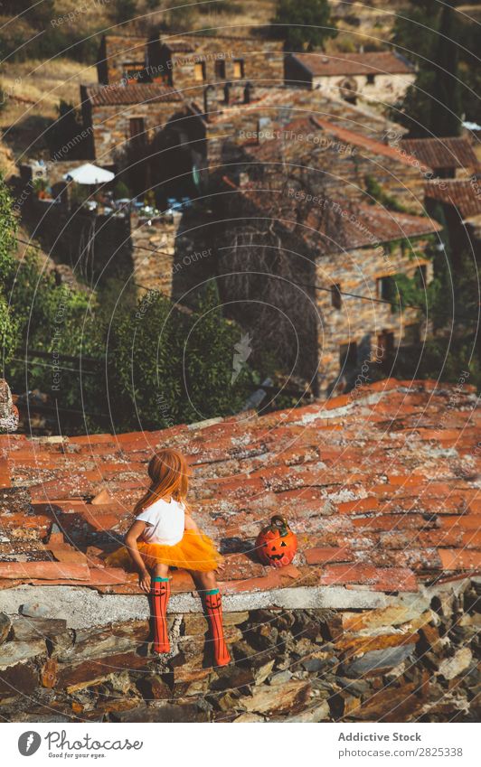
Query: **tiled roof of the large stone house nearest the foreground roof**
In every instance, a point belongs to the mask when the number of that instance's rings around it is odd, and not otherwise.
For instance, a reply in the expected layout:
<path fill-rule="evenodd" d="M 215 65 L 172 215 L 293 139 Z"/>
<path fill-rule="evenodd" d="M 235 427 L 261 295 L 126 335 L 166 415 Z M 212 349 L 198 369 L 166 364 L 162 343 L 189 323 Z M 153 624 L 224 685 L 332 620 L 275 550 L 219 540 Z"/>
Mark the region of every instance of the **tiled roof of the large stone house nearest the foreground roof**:
<path fill-rule="evenodd" d="M 278 220 L 285 229 L 297 229 L 298 236 L 315 248 L 318 256 L 423 237 L 442 229 L 427 216 L 387 210 L 379 204 L 336 201 L 323 197 L 322 192 L 299 225 L 296 198 L 289 196 L 285 189 L 264 189 L 249 183 L 239 188 L 239 192 L 250 201 L 252 215 L 259 211 L 261 216 Z M 302 199 L 299 204 L 304 205 Z"/>

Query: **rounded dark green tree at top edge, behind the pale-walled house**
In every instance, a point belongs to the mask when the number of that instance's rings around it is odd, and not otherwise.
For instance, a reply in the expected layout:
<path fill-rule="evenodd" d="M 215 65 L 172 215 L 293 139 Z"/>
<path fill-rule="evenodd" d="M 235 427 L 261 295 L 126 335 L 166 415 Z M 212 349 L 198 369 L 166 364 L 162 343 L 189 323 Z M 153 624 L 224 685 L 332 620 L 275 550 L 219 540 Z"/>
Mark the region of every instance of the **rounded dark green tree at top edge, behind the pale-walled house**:
<path fill-rule="evenodd" d="M 324 48 L 325 41 L 337 34 L 327 0 L 278 0 L 272 24 L 288 51 Z"/>

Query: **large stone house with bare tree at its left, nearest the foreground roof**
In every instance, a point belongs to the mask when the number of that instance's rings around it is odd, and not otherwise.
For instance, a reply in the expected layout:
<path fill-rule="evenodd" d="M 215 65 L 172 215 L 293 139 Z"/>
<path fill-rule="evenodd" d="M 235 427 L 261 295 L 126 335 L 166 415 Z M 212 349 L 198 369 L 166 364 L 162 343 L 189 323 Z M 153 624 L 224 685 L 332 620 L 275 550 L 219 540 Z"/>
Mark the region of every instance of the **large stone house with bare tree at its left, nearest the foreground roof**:
<path fill-rule="evenodd" d="M 295 178 L 226 189 L 222 298 L 254 348 L 257 337 L 277 349 L 316 394 L 351 388 L 364 365 L 386 374 L 426 332 L 417 310 L 400 311 L 396 276 L 429 283 L 436 221 L 312 193 Z"/>

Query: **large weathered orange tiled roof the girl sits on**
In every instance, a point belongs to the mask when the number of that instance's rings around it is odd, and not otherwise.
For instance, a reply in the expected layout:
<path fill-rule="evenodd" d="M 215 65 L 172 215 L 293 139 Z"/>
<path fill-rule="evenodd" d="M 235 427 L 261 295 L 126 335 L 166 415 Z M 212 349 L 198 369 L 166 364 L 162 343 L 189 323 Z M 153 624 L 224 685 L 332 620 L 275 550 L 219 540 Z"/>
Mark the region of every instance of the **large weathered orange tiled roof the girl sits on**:
<path fill-rule="evenodd" d="M 472 388 L 388 379 L 308 407 L 160 432 L 0 436 L 0 587 L 137 594 L 136 576 L 101 555 L 131 523 L 160 445 L 193 466 L 194 516 L 226 553 L 226 592 L 416 591 L 478 571 L 480 426 Z M 282 569 L 260 565 L 254 550 L 274 513 L 299 544 Z M 173 588 L 191 591 L 190 576 L 175 572 Z"/>

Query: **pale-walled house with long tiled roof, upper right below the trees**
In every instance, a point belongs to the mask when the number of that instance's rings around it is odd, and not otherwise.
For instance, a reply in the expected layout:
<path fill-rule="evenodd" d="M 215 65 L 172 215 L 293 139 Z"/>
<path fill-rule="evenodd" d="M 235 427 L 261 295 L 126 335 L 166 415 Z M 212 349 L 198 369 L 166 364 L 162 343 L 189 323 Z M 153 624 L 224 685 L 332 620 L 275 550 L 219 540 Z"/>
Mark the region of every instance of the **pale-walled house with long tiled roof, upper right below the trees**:
<path fill-rule="evenodd" d="M 395 104 L 415 77 L 410 61 L 395 51 L 290 53 L 286 57 L 288 84 L 320 88 L 353 104 L 358 98 Z"/>

